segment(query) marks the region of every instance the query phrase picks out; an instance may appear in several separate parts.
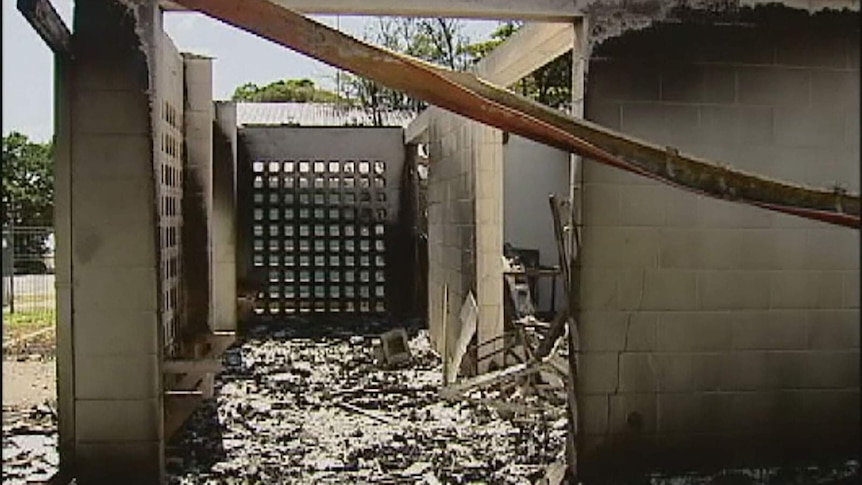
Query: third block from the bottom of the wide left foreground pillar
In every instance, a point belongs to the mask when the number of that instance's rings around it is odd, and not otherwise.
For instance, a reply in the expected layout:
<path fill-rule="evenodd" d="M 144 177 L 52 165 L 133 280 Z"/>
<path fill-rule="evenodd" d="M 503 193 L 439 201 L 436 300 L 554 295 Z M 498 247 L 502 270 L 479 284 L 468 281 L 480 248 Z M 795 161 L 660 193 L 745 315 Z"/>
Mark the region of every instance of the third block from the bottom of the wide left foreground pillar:
<path fill-rule="evenodd" d="M 156 354 L 78 355 L 75 396 L 78 399 L 146 399 L 161 396 Z"/>

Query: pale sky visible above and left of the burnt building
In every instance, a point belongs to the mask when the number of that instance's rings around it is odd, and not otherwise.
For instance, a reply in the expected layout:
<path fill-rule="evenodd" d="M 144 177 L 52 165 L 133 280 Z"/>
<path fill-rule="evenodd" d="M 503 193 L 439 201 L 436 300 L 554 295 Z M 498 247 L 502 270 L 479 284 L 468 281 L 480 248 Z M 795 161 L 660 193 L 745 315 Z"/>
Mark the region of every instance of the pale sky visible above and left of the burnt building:
<path fill-rule="evenodd" d="M 3 4 L 3 134 L 19 131 L 36 141 L 53 134 L 53 54 L 15 7 Z M 72 25 L 72 0 L 51 0 L 66 25 Z M 369 17 L 315 17 L 362 37 L 375 22 Z M 482 40 L 496 26 L 490 21 L 464 21 L 465 33 Z M 213 97 L 227 99 L 246 82 L 267 84 L 284 78 L 311 78 L 335 87 L 336 70 L 314 59 L 260 39 L 197 13 L 170 12 L 165 31 L 181 52 L 214 58 Z"/>

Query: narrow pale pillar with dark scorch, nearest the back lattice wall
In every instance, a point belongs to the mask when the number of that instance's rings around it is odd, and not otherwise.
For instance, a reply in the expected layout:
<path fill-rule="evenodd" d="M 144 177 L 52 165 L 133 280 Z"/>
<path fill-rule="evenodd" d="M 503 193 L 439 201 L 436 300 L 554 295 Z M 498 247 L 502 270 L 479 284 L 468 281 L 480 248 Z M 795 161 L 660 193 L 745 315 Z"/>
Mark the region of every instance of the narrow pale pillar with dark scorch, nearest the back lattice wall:
<path fill-rule="evenodd" d="M 236 329 L 236 104 L 216 103 L 213 143 L 213 329 Z"/>

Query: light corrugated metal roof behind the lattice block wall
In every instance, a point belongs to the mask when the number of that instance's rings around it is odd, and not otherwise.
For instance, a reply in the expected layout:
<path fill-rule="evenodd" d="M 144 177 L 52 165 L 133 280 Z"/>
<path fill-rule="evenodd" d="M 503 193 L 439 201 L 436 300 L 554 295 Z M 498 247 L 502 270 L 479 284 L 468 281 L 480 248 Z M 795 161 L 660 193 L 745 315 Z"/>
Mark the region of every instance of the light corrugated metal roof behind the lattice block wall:
<path fill-rule="evenodd" d="M 406 127 L 416 113 L 382 111 L 380 124 L 367 108 L 324 103 L 237 103 L 238 126 L 400 126 Z"/>

